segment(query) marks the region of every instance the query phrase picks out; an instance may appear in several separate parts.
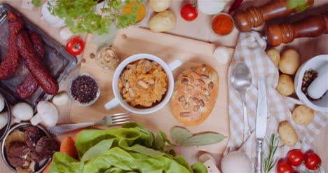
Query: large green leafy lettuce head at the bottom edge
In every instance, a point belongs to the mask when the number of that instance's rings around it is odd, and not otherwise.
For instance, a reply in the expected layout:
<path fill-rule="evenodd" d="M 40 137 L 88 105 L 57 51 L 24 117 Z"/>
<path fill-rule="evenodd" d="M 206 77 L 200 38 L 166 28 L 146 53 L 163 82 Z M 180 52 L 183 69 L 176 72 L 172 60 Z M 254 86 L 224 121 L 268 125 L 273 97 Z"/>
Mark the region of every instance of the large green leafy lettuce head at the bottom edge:
<path fill-rule="evenodd" d="M 175 151 L 166 134 L 155 136 L 144 126 L 128 123 L 110 130 L 83 130 L 76 138 L 81 161 L 66 153 L 55 153 L 49 172 L 181 172 L 203 173 L 203 163 L 189 165 Z"/>

